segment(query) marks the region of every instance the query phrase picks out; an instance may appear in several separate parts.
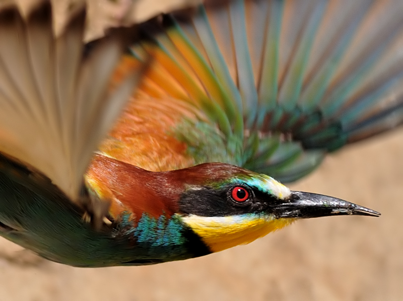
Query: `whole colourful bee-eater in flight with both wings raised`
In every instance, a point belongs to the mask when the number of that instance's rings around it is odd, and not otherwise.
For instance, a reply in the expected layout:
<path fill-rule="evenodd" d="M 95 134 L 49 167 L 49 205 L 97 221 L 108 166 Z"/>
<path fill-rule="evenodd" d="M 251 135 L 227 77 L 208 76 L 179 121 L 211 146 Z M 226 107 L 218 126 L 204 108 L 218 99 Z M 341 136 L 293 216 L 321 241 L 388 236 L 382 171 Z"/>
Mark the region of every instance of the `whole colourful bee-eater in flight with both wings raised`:
<path fill-rule="evenodd" d="M 379 215 L 278 180 L 401 124 L 400 0 L 207 2 L 139 25 L 123 56 L 120 30 L 84 46 L 84 19 L 55 37 L 47 2 L 0 11 L 2 236 L 142 265 Z"/>

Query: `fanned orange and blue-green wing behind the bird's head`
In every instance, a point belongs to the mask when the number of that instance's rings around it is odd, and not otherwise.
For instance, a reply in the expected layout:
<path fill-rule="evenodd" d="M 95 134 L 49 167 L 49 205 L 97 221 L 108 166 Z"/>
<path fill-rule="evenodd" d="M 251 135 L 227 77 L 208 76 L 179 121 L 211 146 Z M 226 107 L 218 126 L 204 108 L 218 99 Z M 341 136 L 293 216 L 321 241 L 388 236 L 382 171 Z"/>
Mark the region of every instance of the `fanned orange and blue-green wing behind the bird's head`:
<path fill-rule="evenodd" d="M 291 182 L 403 121 L 403 2 L 235 0 L 142 25 L 154 57 L 101 152 L 150 170 L 233 163 Z"/>

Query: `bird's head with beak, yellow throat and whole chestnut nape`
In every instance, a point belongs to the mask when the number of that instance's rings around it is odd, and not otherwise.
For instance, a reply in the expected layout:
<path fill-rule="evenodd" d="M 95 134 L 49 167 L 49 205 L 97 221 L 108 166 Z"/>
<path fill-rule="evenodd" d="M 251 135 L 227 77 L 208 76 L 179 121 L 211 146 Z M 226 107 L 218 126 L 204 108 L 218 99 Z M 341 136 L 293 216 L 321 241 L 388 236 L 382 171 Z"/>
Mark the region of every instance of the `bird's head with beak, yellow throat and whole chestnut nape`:
<path fill-rule="evenodd" d="M 124 205 L 112 214 L 115 217 L 130 211 L 138 223 L 145 214 L 154 218 L 155 235 L 150 235 L 148 228 L 149 238 L 155 236 L 156 241 L 162 241 L 165 238 L 159 239 L 158 235 L 171 233 L 157 226 L 161 215 L 173 218 L 175 225 L 180 221 L 184 236 L 196 242 L 187 246 L 194 256 L 248 244 L 299 218 L 379 216 L 376 211 L 341 199 L 291 191 L 268 175 L 225 163 L 153 172 L 96 155 L 88 177 L 98 178 L 115 192 L 119 206 Z M 203 252 L 194 249 L 200 247 L 200 241 L 207 247 Z"/>

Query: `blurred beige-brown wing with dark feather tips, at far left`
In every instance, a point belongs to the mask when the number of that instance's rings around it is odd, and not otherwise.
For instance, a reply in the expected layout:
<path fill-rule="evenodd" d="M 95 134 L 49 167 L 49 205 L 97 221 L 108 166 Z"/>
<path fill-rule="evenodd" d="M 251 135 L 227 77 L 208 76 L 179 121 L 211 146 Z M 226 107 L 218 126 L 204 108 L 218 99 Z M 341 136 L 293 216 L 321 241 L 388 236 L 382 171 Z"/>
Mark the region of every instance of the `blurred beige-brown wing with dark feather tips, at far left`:
<path fill-rule="evenodd" d="M 0 152 L 39 170 L 73 201 L 93 151 L 110 130 L 141 68 L 108 82 L 125 45 L 107 37 L 84 55 L 85 11 L 57 38 L 49 2 L 24 20 L 0 12 Z"/>

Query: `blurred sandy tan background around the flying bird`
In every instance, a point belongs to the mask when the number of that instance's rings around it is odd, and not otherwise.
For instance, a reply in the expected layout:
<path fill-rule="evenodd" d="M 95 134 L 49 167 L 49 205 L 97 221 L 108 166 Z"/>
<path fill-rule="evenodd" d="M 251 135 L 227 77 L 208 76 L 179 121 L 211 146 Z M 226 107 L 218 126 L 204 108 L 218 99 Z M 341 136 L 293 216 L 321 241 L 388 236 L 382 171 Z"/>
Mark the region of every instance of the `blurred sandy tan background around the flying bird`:
<path fill-rule="evenodd" d="M 94 28 L 122 20 L 125 1 L 94 3 L 108 8 Z M 380 218 L 303 220 L 247 246 L 145 267 L 72 268 L 1 239 L 0 301 L 403 300 L 402 184 L 400 129 L 328 156 L 292 185 L 370 207 Z"/>

